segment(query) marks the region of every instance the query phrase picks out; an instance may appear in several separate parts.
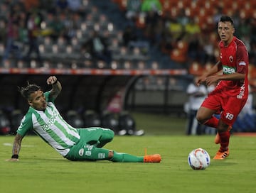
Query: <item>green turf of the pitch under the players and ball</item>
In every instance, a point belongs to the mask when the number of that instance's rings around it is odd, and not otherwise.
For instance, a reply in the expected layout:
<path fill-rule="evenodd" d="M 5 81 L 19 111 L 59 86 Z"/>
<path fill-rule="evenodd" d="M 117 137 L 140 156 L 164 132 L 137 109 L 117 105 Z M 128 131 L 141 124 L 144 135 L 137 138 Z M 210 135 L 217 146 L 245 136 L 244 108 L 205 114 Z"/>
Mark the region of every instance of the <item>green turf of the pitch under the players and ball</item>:
<path fill-rule="evenodd" d="M 14 136 L 0 137 L 1 192 L 256 192 L 254 137 L 232 136 L 230 157 L 192 170 L 188 153 L 218 150 L 213 136 L 117 136 L 106 148 L 143 155 L 160 153 L 161 163 L 71 162 L 37 136 L 23 139 L 19 162 L 11 156 Z"/>

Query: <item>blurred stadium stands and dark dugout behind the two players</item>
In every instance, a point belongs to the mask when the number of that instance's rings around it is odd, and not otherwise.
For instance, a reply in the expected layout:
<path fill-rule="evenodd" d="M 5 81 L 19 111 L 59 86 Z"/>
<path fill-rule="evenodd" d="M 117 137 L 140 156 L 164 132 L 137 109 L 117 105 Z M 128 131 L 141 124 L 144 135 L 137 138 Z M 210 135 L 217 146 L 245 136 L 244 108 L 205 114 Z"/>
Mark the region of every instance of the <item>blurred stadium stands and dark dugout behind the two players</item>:
<path fill-rule="evenodd" d="M 75 126 L 134 130 L 130 112 L 186 118 L 186 87 L 218 60 L 221 14 L 250 53 L 255 109 L 256 1 L 0 0 L 1 134 L 15 133 L 28 108 L 17 87 L 50 89 L 49 75 L 63 84 L 56 104 Z M 93 31 L 110 60 L 88 49 Z M 238 131 L 256 131 L 245 125 Z"/>

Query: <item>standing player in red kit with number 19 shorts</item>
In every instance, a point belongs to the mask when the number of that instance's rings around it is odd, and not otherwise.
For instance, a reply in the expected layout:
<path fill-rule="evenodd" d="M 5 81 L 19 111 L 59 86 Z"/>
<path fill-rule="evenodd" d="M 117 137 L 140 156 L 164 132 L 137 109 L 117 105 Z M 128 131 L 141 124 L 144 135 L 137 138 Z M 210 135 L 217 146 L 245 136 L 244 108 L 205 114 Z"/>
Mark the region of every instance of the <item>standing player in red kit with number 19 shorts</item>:
<path fill-rule="evenodd" d="M 247 48 L 234 36 L 234 32 L 232 18 L 221 16 L 218 22 L 220 61 L 196 80 L 196 85 L 202 82 L 206 82 L 207 85 L 218 82 L 213 92 L 203 101 L 196 116 L 199 123 L 218 130 L 215 143 L 220 143 L 220 149 L 213 158 L 215 160 L 228 157 L 230 129 L 245 106 L 248 96 Z M 217 74 L 220 70 L 223 71 L 221 75 Z M 215 118 L 213 114 L 220 114 L 220 119 Z"/>

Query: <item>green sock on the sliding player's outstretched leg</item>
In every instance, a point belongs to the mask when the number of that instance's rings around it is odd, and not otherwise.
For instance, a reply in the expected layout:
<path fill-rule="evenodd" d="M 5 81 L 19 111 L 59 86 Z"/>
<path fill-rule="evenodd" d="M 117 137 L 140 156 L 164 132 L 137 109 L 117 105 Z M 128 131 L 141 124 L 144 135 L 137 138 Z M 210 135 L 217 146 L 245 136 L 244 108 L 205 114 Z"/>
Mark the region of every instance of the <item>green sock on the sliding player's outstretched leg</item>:
<path fill-rule="evenodd" d="M 117 153 L 114 151 L 112 162 L 144 162 L 144 156 L 134 156 L 127 153 Z"/>

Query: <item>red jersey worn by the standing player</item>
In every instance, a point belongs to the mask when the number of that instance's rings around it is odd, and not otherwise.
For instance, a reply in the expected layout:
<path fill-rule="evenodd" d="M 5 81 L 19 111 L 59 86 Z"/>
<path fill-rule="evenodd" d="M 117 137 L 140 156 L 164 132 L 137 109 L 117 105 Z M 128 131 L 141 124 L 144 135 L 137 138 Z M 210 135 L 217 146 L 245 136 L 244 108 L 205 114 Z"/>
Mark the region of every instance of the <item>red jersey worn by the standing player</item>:
<path fill-rule="evenodd" d="M 238 72 L 245 74 L 245 79 L 221 80 L 214 92 L 221 92 L 226 94 L 226 96 L 236 96 L 238 99 L 247 99 L 249 57 L 245 44 L 238 38 L 234 37 L 232 42 L 226 47 L 223 41 L 220 41 L 219 48 L 223 74 Z"/>

